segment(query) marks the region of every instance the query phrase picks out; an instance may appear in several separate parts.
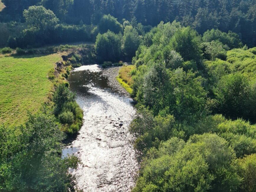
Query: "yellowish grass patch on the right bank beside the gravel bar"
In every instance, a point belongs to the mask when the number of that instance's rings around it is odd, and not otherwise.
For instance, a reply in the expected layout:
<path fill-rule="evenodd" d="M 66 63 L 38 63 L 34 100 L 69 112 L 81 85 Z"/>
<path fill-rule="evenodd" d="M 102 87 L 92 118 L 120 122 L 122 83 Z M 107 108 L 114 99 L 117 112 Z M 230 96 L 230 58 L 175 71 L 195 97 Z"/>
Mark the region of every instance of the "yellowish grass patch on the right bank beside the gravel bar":
<path fill-rule="evenodd" d="M 118 80 L 118 82 L 125 88 L 125 90 L 128 93 L 132 93 L 132 88 L 131 85 L 133 84 L 133 79 L 132 79 L 132 75 L 131 72 L 133 70 L 135 70 L 135 65 L 126 65 L 123 66 L 120 70 L 119 70 L 119 75 L 118 77 L 116 77 L 116 79 Z"/>

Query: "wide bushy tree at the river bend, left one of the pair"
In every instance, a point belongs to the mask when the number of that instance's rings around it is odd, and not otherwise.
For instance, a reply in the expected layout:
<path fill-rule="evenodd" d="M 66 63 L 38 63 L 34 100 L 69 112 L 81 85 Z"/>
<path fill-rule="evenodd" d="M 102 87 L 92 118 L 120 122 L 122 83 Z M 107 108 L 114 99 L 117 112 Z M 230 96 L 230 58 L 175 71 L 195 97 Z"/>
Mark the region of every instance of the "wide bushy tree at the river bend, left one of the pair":
<path fill-rule="evenodd" d="M 96 37 L 95 51 L 100 63 L 103 61 L 119 61 L 121 58 L 121 34 L 108 31 Z"/>

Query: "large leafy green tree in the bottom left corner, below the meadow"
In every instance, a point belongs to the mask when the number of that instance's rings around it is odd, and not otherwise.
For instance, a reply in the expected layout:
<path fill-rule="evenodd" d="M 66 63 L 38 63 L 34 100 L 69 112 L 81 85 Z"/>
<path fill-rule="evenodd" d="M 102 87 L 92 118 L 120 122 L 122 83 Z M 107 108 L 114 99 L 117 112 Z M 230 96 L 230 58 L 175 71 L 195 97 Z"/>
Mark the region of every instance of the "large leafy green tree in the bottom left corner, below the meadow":
<path fill-rule="evenodd" d="M 15 135 L 15 131 L 17 134 Z M 75 191 L 69 167 L 77 158 L 61 159 L 64 135 L 48 113 L 29 114 L 25 126 L 0 126 L 0 188 L 3 191 Z"/>

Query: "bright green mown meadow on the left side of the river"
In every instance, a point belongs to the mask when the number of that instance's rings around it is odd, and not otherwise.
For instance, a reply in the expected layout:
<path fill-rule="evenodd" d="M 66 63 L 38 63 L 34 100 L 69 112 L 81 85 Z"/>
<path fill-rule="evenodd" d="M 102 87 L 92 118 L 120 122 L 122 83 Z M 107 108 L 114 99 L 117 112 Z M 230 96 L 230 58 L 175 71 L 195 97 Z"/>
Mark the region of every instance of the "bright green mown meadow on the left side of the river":
<path fill-rule="evenodd" d="M 0 57 L 0 123 L 24 123 L 27 110 L 40 108 L 53 88 L 47 74 L 60 60 L 59 54 Z"/>

